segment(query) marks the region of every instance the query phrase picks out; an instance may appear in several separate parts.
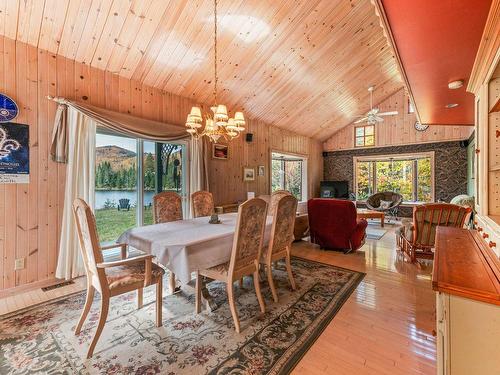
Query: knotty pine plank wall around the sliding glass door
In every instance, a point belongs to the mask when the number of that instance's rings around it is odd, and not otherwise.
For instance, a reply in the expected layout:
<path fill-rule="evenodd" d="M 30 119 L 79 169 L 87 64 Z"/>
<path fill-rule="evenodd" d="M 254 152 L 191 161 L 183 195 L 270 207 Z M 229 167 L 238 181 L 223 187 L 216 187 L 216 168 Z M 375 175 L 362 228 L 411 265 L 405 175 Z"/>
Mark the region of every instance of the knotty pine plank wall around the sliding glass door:
<path fill-rule="evenodd" d="M 193 102 L 4 37 L 0 37 L 0 92 L 17 101 L 20 114 L 15 122 L 30 126 L 30 183 L 0 185 L 0 291 L 5 294 L 12 288 L 45 284 L 55 274 L 66 171 L 64 164 L 49 158 L 56 104 L 46 96 L 180 126 Z M 216 203 L 245 199 L 247 191 L 268 193 L 271 149 L 308 156 L 309 189 L 317 193 L 323 175 L 321 143 L 259 121 L 248 122 L 254 142 L 232 142 L 228 161 L 209 158 Z M 266 176 L 243 183 L 244 165 L 265 165 Z M 14 271 L 17 258 L 25 258 L 25 268 Z"/>

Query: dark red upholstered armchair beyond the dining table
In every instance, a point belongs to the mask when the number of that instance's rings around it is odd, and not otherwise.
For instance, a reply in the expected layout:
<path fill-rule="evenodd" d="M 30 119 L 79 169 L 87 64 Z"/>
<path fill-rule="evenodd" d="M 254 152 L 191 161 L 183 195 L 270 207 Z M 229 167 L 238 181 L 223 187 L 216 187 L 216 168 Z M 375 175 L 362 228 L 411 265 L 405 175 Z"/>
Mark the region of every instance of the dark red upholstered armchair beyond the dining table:
<path fill-rule="evenodd" d="M 353 202 L 339 199 L 310 199 L 307 202 L 311 242 L 322 249 L 348 253 L 365 243 L 365 219 L 357 219 Z"/>

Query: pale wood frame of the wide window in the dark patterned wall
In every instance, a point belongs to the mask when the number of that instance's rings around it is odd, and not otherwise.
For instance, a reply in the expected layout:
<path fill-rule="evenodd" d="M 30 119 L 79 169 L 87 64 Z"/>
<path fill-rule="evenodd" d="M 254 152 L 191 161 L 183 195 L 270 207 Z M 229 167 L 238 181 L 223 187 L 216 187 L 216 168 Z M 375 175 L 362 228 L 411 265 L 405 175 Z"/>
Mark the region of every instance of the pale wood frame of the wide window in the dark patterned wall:
<path fill-rule="evenodd" d="M 355 156 L 353 157 L 353 188 L 354 194 L 356 195 L 356 200 L 358 196 L 358 176 L 357 176 L 357 163 L 358 162 L 366 162 L 366 161 L 389 161 L 390 159 L 394 160 L 416 160 L 416 159 L 424 159 L 429 158 L 431 163 L 431 199 L 429 202 L 421 202 L 421 201 L 403 201 L 405 204 L 418 204 L 418 203 L 430 203 L 435 202 L 436 200 L 436 188 L 435 188 L 435 152 L 414 152 L 407 154 L 383 154 L 383 155 L 371 155 L 371 156 Z M 413 167 L 415 168 L 415 166 Z M 373 194 L 377 193 L 377 181 L 376 176 L 373 177 Z M 413 179 L 414 189 L 418 187 L 418 181 L 416 178 Z M 366 200 L 358 200 L 359 202 L 365 202 Z"/>

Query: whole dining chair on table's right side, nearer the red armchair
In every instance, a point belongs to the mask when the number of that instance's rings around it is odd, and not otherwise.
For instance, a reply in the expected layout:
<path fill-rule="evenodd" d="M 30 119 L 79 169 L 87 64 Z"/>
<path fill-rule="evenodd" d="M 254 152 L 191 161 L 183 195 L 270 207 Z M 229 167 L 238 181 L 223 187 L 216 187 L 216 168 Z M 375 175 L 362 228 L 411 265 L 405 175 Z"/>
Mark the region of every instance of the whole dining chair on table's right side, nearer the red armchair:
<path fill-rule="evenodd" d="M 273 281 L 273 263 L 280 259 L 285 260 L 285 267 L 292 290 L 295 290 L 295 280 L 293 279 L 292 266 L 290 264 L 290 249 L 294 240 L 295 213 L 297 211 L 297 199 L 291 195 L 282 195 L 276 203 L 273 225 L 271 227 L 271 237 L 269 245 L 262 251 L 260 263 L 265 266 L 267 281 L 273 294 L 274 302 L 278 302 L 278 294 Z"/>

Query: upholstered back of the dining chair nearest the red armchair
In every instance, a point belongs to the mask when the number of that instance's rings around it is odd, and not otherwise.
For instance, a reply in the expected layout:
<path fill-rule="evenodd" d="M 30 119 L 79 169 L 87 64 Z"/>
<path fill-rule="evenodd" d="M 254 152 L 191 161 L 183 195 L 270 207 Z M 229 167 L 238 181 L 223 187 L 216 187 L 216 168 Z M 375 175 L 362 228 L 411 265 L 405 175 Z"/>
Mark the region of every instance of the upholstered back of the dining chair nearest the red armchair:
<path fill-rule="evenodd" d="M 290 194 L 282 196 L 277 203 L 271 229 L 269 248 L 273 254 L 286 250 L 293 242 L 296 212 L 297 199 Z"/>

